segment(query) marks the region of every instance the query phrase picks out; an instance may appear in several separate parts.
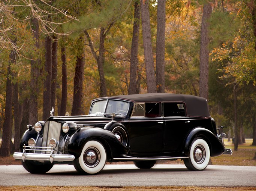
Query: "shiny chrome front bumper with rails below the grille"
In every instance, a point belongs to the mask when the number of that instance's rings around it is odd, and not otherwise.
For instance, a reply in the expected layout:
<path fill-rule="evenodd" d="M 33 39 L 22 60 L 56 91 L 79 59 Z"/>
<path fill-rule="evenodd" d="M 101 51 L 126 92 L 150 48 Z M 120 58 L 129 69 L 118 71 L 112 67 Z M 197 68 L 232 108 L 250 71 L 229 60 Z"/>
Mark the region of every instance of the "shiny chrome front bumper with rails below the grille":
<path fill-rule="evenodd" d="M 13 153 L 14 159 L 20 159 L 23 162 L 25 160 L 46 160 L 53 163 L 54 161 L 69 162 L 75 159 L 72 154 L 53 154 L 54 150 L 52 147 L 34 147 L 34 148 L 45 148 L 45 150 L 28 149 L 29 147 L 24 145 L 23 153 Z M 48 151 L 49 154 L 43 153 L 26 153 L 26 151 Z"/>

